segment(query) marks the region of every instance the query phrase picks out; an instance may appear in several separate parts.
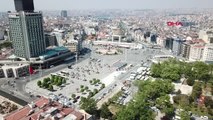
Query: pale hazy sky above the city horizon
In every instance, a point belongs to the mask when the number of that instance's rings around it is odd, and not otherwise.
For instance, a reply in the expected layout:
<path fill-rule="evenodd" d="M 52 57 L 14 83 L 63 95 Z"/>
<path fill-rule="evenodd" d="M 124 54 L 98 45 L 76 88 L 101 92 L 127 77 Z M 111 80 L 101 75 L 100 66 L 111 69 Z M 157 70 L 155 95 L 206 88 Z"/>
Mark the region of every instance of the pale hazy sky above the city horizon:
<path fill-rule="evenodd" d="M 213 0 L 34 0 L 37 10 L 213 8 Z M 13 0 L 0 0 L 0 11 L 13 11 Z"/>

